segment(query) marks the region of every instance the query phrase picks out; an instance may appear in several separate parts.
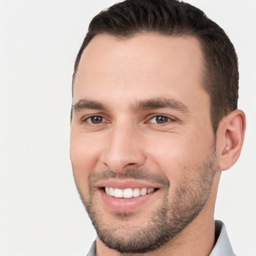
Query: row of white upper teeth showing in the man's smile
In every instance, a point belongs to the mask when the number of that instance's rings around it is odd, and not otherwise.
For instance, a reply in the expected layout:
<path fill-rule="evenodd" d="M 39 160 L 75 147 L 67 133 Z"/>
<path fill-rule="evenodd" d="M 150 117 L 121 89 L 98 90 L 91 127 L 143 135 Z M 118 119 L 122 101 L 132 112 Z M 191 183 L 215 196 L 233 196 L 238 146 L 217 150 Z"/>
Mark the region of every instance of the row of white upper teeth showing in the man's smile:
<path fill-rule="evenodd" d="M 119 189 L 119 188 L 113 188 L 111 186 L 105 186 L 105 192 L 107 195 L 111 195 L 117 198 L 131 198 L 131 197 L 137 197 L 139 195 L 145 195 L 149 194 L 154 191 L 154 188 L 148 188 L 145 187 L 139 189 L 139 188 L 125 188 L 125 189 Z"/>

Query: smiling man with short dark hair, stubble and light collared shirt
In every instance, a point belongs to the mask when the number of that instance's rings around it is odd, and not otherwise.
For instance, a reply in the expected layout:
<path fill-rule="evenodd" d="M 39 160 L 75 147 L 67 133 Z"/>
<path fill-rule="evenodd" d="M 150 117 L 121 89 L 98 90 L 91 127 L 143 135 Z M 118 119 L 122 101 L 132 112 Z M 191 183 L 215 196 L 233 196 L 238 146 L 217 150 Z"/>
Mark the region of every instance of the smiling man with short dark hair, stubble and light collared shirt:
<path fill-rule="evenodd" d="M 73 74 L 70 158 L 97 238 L 87 255 L 234 255 L 213 219 L 240 154 L 232 43 L 177 0 L 95 16 Z"/>

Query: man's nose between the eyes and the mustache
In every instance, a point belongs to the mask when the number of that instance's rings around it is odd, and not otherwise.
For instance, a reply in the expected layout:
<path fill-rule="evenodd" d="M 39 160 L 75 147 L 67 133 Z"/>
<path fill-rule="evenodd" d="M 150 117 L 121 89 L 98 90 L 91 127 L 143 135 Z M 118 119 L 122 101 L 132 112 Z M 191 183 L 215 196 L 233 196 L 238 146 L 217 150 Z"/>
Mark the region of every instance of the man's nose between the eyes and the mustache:
<path fill-rule="evenodd" d="M 115 124 L 108 135 L 101 154 L 104 165 L 115 172 L 143 165 L 146 157 L 138 128 L 131 124 Z"/>

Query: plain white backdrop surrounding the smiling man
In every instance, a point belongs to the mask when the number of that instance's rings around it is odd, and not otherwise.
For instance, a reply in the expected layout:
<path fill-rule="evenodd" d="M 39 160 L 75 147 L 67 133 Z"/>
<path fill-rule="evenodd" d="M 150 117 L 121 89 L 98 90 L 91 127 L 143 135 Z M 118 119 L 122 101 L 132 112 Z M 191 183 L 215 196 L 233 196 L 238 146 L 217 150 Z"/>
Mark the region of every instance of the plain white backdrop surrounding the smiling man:
<path fill-rule="evenodd" d="M 69 160 L 71 76 L 89 20 L 114 0 L 0 0 L 0 255 L 85 256 L 95 231 Z M 247 130 L 221 177 L 215 218 L 234 252 L 256 255 L 256 0 L 188 0 L 239 58 Z"/>

